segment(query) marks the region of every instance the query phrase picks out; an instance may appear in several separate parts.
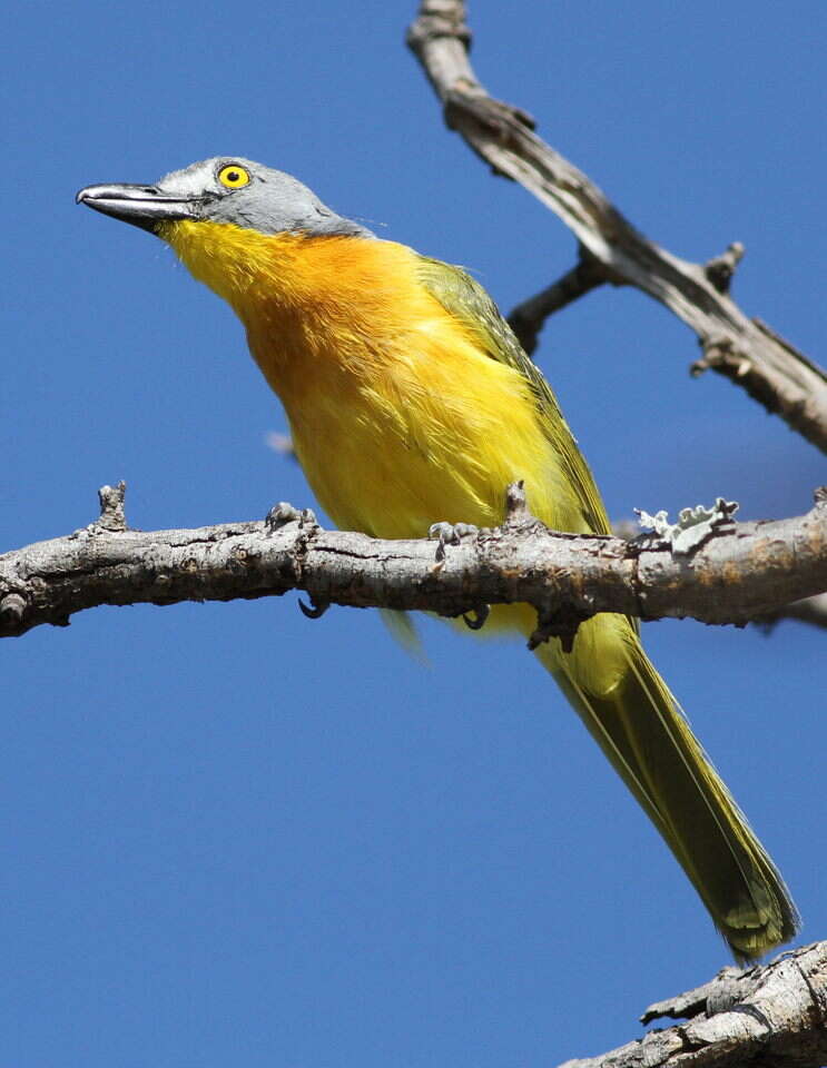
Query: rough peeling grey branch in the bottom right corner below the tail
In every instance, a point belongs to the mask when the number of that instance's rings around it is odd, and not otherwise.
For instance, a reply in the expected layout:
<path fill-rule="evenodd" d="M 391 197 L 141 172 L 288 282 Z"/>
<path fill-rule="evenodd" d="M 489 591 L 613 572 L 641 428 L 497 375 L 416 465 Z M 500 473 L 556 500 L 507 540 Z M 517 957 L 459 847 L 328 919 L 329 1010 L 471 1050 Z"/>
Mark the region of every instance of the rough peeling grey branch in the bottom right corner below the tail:
<path fill-rule="evenodd" d="M 760 968 L 725 968 L 653 1005 L 642 1022 L 662 1017 L 689 1022 L 560 1068 L 819 1068 L 827 1064 L 827 942 Z"/>

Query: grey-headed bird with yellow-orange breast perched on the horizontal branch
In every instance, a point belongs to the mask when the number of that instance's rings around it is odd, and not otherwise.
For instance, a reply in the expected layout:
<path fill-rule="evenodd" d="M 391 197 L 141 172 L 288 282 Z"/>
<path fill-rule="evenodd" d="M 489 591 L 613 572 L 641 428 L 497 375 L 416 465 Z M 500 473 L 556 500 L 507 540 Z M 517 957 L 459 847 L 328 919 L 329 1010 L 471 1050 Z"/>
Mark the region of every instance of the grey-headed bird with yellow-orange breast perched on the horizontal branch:
<path fill-rule="evenodd" d="M 226 300 L 343 530 L 494 527 L 522 479 L 548 527 L 610 533 L 591 471 L 536 365 L 465 270 L 376 237 L 293 176 L 237 156 L 77 201 L 167 243 Z M 528 605 L 493 625 L 530 634 Z M 535 654 L 693 884 L 735 959 L 790 940 L 784 880 L 649 661 L 636 620 L 599 613 Z"/>

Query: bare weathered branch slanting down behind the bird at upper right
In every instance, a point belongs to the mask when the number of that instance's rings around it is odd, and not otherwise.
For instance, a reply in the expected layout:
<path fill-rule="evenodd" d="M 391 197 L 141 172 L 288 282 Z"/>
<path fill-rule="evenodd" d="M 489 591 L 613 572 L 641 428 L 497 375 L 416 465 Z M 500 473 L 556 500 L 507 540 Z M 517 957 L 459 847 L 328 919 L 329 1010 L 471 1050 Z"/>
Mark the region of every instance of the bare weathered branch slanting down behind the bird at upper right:
<path fill-rule="evenodd" d="M 610 280 L 642 289 L 695 330 L 703 349 L 695 374 L 712 368 L 827 452 L 827 374 L 727 295 L 742 248 L 730 246 L 703 266 L 650 241 L 533 132 L 524 111 L 489 96 L 469 62 L 470 41 L 462 0 L 423 0 L 407 33 L 449 127 L 495 174 L 520 182 L 554 211 Z"/>

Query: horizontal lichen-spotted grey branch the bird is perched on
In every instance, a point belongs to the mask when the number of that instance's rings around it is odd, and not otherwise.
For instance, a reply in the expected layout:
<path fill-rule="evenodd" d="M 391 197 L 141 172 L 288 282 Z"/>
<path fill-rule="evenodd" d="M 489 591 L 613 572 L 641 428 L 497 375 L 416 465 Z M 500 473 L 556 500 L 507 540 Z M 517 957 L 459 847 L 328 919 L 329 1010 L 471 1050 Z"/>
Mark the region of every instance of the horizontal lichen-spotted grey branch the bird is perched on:
<path fill-rule="evenodd" d="M 101 517 L 66 537 L 0 556 L 0 636 L 101 604 L 174 604 L 308 593 L 328 604 L 469 615 L 526 602 L 539 614 L 531 641 L 570 641 L 595 612 L 641 619 L 691 616 L 744 624 L 827 591 L 827 493 L 804 516 L 735 523 L 732 505 L 687 510 L 652 534 L 554 533 L 509 487 L 501 527 L 440 525 L 439 544 L 323 531 L 311 512 L 279 505 L 265 522 L 190 531 L 129 530 L 121 483 L 100 491 Z"/>

